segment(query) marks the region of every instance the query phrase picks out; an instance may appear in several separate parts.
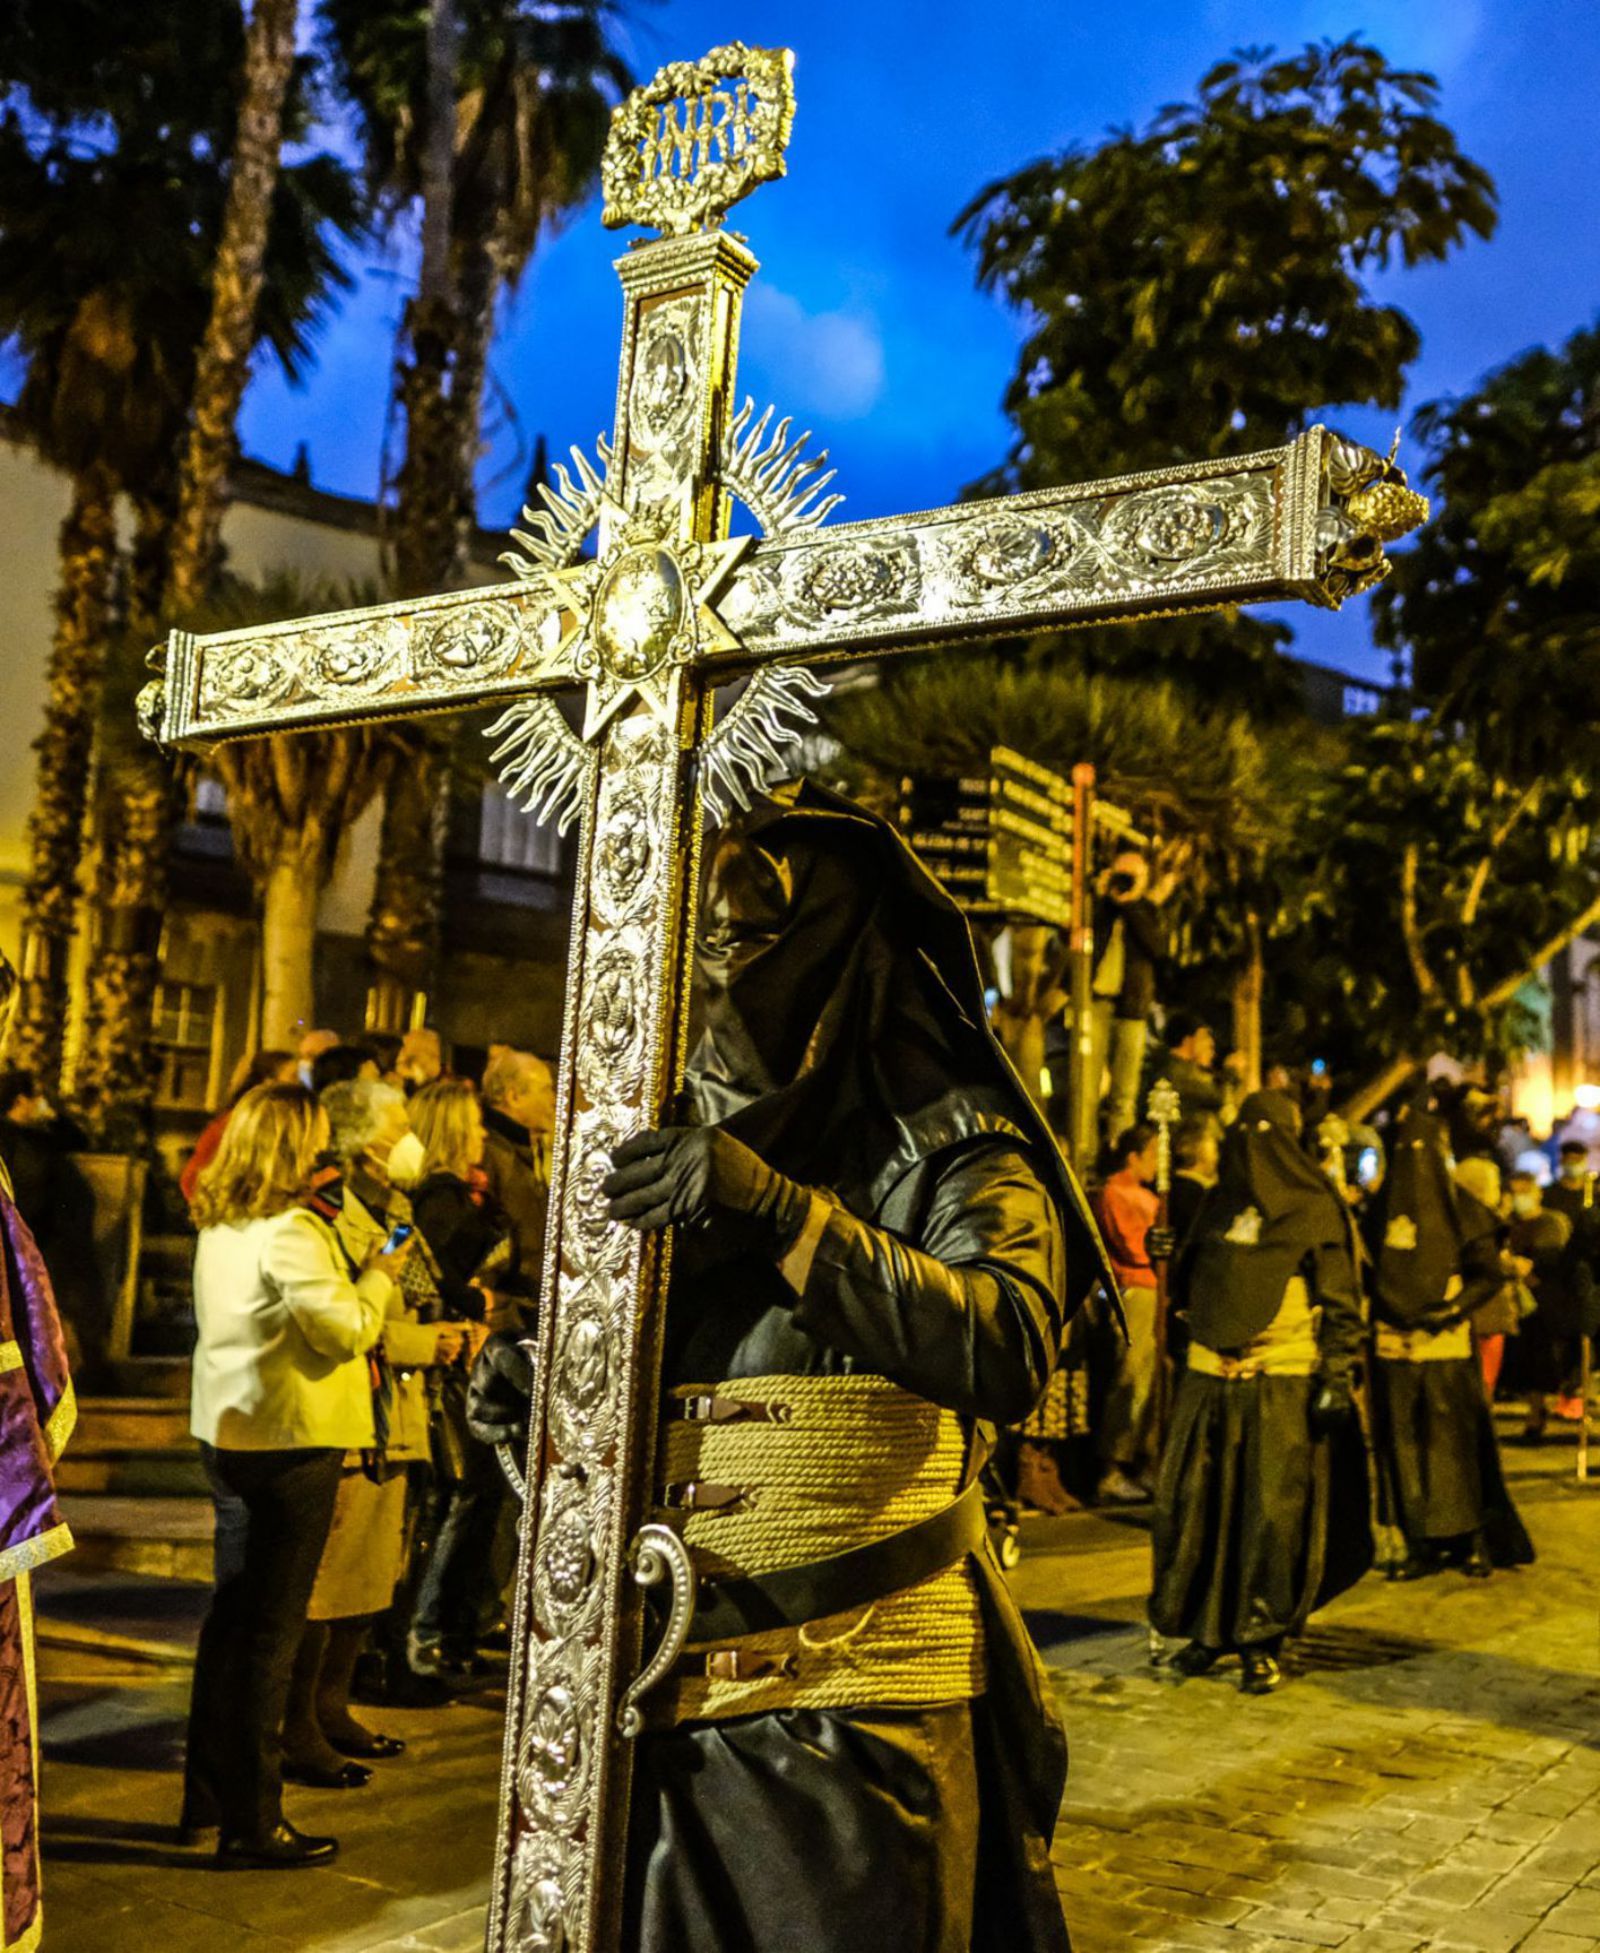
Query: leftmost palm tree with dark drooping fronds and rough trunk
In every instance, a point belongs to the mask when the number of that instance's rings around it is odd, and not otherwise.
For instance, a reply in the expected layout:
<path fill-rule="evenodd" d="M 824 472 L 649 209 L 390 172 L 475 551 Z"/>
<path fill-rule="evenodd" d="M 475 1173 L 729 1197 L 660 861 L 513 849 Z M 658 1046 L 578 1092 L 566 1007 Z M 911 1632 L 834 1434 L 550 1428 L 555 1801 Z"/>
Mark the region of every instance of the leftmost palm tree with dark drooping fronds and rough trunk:
<path fill-rule="evenodd" d="M 0 338 L 25 361 L 23 430 L 72 477 L 23 891 L 20 1049 L 51 1080 L 109 644 L 123 613 L 152 619 L 164 582 L 242 49 L 240 16 L 215 0 L 53 0 L 0 14 Z M 297 96 L 291 119 L 305 129 Z M 354 184 L 332 156 L 281 174 L 258 336 L 291 373 L 344 277 L 332 234 L 356 221 Z M 129 576 L 115 547 L 121 492 L 137 521 Z M 117 822 L 109 834 L 123 838 Z M 104 973 L 96 961 L 94 980 Z M 145 1035 L 141 1019 L 131 1025 Z"/>

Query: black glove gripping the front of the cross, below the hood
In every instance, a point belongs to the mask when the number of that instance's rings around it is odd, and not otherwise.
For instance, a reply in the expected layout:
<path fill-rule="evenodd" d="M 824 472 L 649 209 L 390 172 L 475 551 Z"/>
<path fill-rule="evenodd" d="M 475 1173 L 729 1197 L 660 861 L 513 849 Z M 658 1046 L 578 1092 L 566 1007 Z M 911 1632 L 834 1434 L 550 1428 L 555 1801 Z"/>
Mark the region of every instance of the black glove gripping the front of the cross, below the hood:
<path fill-rule="evenodd" d="M 608 1215 L 635 1228 L 709 1230 L 723 1260 L 787 1254 L 805 1225 L 811 1195 L 715 1125 L 664 1125 L 611 1154 Z"/>

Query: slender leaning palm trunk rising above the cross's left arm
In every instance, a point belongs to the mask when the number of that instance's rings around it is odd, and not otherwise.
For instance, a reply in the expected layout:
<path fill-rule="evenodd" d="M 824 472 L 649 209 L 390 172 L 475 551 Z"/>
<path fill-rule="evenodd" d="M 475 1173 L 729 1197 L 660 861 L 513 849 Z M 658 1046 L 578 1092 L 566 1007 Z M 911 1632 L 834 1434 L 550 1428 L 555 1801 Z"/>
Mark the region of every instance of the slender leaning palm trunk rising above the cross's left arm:
<path fill-rule="evenodd" d="M 193 611 L 205 596 L 221 551 L 234 424 L 256 344 L 299 0 L 256 0 L 244 39 L 244 92 L 229 166 L 229 201 L 211 271 L 211 318 L 195 363 L 189 443 L 172 531 L 168 602 L 178 617 Z"/>

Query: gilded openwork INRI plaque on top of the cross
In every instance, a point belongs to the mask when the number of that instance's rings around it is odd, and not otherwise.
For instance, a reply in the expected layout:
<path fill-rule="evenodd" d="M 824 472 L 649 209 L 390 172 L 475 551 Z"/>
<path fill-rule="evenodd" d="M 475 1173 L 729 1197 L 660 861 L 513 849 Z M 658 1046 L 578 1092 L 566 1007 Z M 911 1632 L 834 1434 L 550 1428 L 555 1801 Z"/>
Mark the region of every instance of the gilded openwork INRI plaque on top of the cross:
<path fill-rule="evenodd" d="M 783 174 L 795 119 L 787 47 L 731 41 L 699 61 L 670 61 L 611 115 L 600 162 L 604 221 L 664 236 L 715 229 Z"/>

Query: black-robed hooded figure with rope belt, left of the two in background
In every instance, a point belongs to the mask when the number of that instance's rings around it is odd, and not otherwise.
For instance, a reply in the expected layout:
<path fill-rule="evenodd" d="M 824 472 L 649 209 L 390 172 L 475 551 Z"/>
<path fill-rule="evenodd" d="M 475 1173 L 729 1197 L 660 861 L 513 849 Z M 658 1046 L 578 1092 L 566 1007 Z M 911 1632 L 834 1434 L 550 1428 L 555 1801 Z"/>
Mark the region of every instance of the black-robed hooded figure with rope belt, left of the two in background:
<path fill-rule="evenodd" d="M 1299 1144 L 1299 1109 L 1256 1092 L 1174 1267 L 1188 1361 L 1157 1484 L 1151 1625 L 1174 1666 L 1239 1652 L 1276 1687 L 1278 1650 L 1371 1564 L 1356 1238 Z"/>

